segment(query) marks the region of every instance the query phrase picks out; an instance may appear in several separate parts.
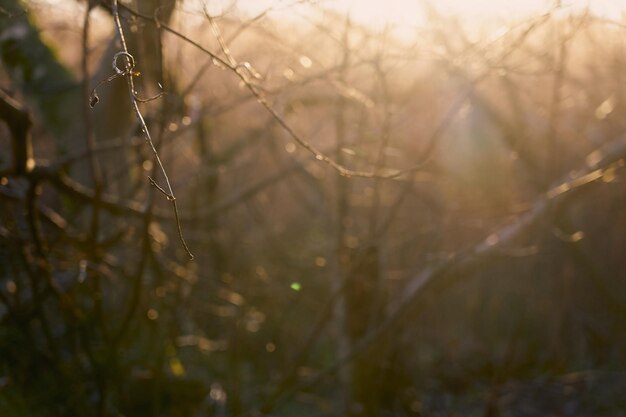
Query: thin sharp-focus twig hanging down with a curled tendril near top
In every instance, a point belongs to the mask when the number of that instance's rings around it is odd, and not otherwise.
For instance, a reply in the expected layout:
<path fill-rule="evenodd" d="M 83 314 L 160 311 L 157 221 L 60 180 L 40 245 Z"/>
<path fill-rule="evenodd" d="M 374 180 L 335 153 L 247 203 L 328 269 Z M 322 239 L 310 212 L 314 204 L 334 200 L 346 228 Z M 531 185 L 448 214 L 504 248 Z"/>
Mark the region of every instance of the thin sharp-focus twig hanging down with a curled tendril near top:
<path fill-rule="evenodd" d="M 159 190 L 161 193 L 165 194 L 167 199 L 171 202 L 172 209 L 174 210 L 174 217 L 176 218 L 176 228 L 178 231 L 178 238 L 180 242 L 182 243 L 183 248 L 187 252 L 189 259 L 193 259 L 194 256 L 189 250 L 189 247 L 187 246 L 187 243 L 185 242 L 185 238 L 183 237 L 183 231 L 180 225 L 180 218 L 179 218 L 180 216 L 178 213 L 178 206 L 176 204 L 176 197 L 174 196 L 174 191 L 172 190 L 170 179 L 167 175 L 167 172 L 165 171 L 165 167 L 163 167 L 163 163 L 161 162 L 159 153 L 157 152 L 156 147 L 154 146 L 154 142 L 152 141 L 152 137 L 150 136 L 150 131 L 148 130 L 146 121 L 144 120 L 143 115 L 141 114 L 141 111 L 139 110 L 139 106 L 137 104 L 138 99 L 135 94 L 135 84 L 133 81 L 134 59 L 132 58 L 132 55 L 128 52 L 128 46 L 126 44 L 126 37 L 124 36 L 124 30 L 122 29 L 122 24 L 120 22 L 120 15 L 119 15 L 119 11 L 117 8 L 117 0 L 113 0 L 112 12 L 113 12 L 113 18 L 115 20 L 115 26 L 117 28 L 117 33 L 119 34 L 120 42 L 122 44 L 121 55 L 124 55 L 127 61 L 126 66 L 123 71 L 123 75 L 126 76 L 126 81 L 128 83 L 128 92 L 130 96 L 130 102 L 135 112 L 135 115 L 137 116 L 137 119 L 139 120 L 139 123 L 141 125 L 141 130 L 143 131 L 146 142 L 148 143 L 148 145 L 150 146 L 150 149 L 152 150 L 152 154 L 154 155 L 154 160 L 156 161 L 157 166 L 159 167 L 159 170 L 163 174 L 163 178 L 165 179 L 166 186 L 165 188 L 160 187 L 152 178 L 150 178 L 149 180 L 150 180 L 150 183 L 154 187 L 156 187 L 157 190 Z M 115 67 L 116 69 L 119 69 L 118 66 L 115 65 Z"/>

